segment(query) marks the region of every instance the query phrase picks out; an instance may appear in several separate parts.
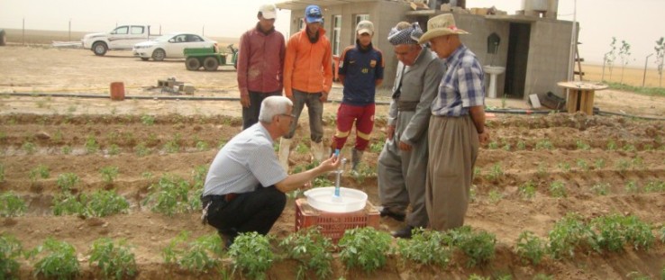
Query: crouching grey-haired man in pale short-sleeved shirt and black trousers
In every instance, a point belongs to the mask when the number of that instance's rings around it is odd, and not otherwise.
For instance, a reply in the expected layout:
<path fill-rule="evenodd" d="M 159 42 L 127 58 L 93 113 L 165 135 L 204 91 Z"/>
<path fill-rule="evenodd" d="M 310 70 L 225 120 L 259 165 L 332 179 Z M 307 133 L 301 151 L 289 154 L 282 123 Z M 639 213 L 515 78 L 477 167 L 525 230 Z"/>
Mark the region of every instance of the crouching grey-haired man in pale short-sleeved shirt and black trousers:
<path fill-rule="evenodd" d="M 272 145 L 288 133 L 292 108 L 284 96 L 264 99 L 259 122 L 224 145 L 208 170 L 202 219 L 218 230 L 227 248 L 241 232 L 268 234 L 284 211 L 287 192 L 309 188 L 314 177 L 340 166 L 333 155 L 318 167 L 287 175 Z"/>

